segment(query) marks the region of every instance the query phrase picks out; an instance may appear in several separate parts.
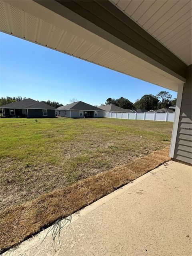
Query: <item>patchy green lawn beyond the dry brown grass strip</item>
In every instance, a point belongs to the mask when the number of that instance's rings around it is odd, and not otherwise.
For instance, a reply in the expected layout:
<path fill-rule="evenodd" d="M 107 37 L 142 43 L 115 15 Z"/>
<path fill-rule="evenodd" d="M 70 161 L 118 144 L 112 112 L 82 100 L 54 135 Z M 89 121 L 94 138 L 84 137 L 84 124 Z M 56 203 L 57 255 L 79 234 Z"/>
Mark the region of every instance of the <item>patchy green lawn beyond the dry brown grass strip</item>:
<path fill-rule="evenodd" d="M 1 118 L 0 210 L 170 145 L 172 122 Z"/>

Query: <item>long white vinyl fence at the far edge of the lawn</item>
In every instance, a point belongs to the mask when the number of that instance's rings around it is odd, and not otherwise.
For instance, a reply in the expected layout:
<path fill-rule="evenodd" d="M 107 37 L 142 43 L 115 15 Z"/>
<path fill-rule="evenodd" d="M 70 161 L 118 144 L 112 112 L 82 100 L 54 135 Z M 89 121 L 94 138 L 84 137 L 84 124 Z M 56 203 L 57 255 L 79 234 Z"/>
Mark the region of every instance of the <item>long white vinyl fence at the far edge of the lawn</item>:
<path fill-rule="evenodd" d="M 137 119 L 137 120 L 152 120 L 152 121 L 174 121 L 175 113 L 112 113 L 104 112 L 104 117 L 119 118 L 119 119 Z"/>

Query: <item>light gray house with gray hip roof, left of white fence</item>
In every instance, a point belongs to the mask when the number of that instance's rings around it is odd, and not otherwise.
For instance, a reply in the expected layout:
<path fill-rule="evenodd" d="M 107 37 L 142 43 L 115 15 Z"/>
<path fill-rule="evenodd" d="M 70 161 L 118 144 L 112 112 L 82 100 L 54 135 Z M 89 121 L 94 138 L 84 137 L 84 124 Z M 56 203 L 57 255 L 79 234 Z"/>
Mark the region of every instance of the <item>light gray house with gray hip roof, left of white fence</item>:
<path fill-rule="evenodd" d="M 57 116 L 65 116 L 70 118 L 97 118 L 104 117 L 104 110 L 85 102 L 78 101 L 57 108 L 56 114 Z"/>

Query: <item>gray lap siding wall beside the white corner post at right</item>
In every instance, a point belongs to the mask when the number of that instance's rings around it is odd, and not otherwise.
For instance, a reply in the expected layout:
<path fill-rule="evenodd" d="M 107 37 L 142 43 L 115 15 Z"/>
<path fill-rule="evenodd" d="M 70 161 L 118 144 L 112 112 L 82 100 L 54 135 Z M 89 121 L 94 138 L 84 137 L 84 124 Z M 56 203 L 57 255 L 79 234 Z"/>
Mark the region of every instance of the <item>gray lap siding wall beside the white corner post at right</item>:
<path fill-rule="evenodd" d="M 192 83 L 191 70 L 184 84 L 174 158 L 192 164 Z"/>

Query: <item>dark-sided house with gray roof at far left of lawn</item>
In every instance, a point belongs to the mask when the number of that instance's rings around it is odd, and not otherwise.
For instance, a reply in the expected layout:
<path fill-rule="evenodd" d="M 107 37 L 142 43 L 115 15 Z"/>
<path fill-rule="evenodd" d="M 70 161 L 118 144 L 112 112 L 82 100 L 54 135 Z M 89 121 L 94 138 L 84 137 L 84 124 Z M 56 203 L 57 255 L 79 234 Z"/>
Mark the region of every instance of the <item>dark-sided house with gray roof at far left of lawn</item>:
<path fill-rule="evenodd" d="M 52 118 L 56 117 L 56 108 L 30 98 L 12 102 L 3 106 L 4 117 Z"/>

